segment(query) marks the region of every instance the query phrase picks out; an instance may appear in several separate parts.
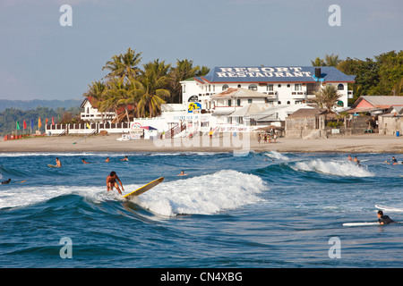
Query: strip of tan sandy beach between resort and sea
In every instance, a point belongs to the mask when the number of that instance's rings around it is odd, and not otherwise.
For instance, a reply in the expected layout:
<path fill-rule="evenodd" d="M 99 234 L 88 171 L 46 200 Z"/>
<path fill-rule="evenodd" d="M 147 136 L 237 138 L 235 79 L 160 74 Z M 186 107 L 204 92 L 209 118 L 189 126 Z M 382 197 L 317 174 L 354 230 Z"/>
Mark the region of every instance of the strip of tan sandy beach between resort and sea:
<path fill-rule="evenodd" d="M 165 139 L 118 141 L 120 135 L 33 137 L 0 141 L 0 152 L 340 152 L 403 153 L 403 138 L 364 134 L 330 139 L 285 139 L 259 144 L 250 139 Z"/>

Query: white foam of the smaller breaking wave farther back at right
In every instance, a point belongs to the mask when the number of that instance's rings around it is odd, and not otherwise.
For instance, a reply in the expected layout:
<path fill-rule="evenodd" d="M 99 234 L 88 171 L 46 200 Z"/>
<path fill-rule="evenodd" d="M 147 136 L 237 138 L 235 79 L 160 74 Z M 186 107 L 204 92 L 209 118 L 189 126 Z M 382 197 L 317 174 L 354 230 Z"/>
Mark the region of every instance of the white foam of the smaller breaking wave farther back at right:
<path fill-rule="evenodd" d="M 372 177 L 373 172 L 369 172 L 366 167 L 358 166 L 352 162 L 324 162 L 320 159 L 296 162 L 291 165 L 296 171 L 323 172 L 331 175 L 346 177 Z"/>

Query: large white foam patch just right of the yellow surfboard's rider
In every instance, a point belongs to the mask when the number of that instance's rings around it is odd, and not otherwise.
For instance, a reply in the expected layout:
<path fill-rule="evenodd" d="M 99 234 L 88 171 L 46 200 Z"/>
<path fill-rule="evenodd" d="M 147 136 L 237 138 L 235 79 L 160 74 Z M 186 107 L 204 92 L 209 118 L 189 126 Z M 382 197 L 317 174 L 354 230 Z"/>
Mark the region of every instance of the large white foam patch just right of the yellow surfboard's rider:
<path fill-rule="evenodd" d="M 217 214 L 261 201 L 257 195 L 267 187 L 261 178 L 224 170 L 209 175 L 159 184 L 133 202 L 153 213 Z"/>

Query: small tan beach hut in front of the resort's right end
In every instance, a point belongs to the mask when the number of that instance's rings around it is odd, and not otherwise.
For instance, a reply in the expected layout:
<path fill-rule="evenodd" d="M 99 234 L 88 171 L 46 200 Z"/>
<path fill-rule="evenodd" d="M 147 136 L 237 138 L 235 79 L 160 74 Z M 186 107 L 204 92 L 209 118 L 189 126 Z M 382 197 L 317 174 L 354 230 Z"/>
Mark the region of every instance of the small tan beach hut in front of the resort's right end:
<path fill-rule="evenodd" d="M 287 138 L 326 138 L 326 109 L 301 108 L 286 119 Z"/>

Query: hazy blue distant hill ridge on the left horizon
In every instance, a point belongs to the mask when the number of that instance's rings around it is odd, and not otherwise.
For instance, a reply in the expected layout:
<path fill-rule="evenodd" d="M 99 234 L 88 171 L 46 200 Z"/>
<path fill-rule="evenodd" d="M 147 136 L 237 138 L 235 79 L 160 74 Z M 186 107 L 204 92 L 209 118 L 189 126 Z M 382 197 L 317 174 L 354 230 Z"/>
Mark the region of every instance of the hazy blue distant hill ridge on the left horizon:
<path fill-rule="evenodd" d="M 8 100 L 8 99 L 0 99 L 0 112 L 4 111 L 7 108 L 15 108 L 21 110 L 31 110 L 36 109 L 37 107 L 49 107 L 52 109 L 56 109 L 58 107 L 62 107 L 65 109 L 71 107 L 78 107 L 82 103 L 81 99 L 69 99 L 69 100 Z"/>

